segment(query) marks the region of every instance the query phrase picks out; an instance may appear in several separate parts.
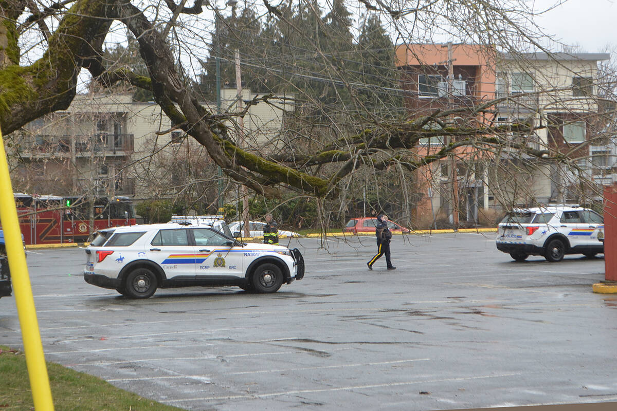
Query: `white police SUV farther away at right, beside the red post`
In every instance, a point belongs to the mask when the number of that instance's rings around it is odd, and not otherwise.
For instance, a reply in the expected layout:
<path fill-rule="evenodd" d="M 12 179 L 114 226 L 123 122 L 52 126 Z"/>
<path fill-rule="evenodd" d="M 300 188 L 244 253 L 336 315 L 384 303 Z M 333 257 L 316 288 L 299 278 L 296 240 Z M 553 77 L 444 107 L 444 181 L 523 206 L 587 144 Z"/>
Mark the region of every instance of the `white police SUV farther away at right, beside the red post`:
<path fill-rule="evenodd" d="M 497 229 L 497 250 L 516 261 L 530 255 L 561 261 L 565 254 L 588 258 L 604 253 L 602 216 L 577 205 L 515 208 Z"/>

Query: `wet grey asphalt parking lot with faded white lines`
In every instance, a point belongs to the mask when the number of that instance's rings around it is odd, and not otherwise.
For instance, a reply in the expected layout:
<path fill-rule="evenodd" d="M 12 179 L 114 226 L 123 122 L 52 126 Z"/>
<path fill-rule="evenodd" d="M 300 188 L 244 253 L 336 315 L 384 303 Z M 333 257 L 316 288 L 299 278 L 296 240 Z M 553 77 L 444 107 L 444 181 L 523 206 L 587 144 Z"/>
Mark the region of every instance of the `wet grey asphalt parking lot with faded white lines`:
<path fill-rule="evenodd" d="M 617 296 L 603 258 L 519 263 L 494 234 L 292 240 L 278 293 L 86 284 L 75 248 L 28 252 L 48 360 L 188 410 L 439 410 L 617 401 Z M 22 346 L 14 298 L 0 343 Z"/>

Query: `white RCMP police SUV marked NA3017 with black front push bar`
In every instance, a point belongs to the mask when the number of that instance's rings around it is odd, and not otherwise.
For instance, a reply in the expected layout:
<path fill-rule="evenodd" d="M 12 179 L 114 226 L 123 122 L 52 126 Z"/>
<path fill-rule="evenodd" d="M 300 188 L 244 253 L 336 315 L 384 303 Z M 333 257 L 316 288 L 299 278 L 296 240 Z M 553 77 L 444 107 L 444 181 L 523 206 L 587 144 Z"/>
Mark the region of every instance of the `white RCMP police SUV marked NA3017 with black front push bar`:
<path fill-rule="evenodd" d="M 86 247 L 86 282 L 130 298 L 157 288 L 232 285 L 274 293 L 304 277 L 297 248 L 240 243 L 210 226 L 146 224 L 97 232 Z"/>

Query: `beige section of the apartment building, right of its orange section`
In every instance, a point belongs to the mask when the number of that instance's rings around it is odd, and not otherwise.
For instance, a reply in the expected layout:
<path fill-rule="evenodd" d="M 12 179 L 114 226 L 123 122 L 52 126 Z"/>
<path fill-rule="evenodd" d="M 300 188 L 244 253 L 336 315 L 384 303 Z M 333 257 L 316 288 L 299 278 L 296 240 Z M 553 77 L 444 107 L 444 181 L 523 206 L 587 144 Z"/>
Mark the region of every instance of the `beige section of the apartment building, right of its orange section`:
<path fill-rule="evenodd" d="M 520 167 L 520 178 L 500 184 L 500 192 L 505 195 L 502 201 L 524 204 L 580 200 L 576 187 L 581 176 L 571 169 L 573 165 L 585 168 L 597 151 L 601 130 L 595 84 L 598 62 L 609 58 L 606 53 L 499 56 L 495 97 L 510 98 L 497 104 L 495 120 L 534 128 L 529 134 L 513 135 L 515 142 L 547 150 L 551 156 L 568 155 L 564 163 L 511 158 L 511 166 Z M 495 183 L 499 185 L 497 179 Z"/>

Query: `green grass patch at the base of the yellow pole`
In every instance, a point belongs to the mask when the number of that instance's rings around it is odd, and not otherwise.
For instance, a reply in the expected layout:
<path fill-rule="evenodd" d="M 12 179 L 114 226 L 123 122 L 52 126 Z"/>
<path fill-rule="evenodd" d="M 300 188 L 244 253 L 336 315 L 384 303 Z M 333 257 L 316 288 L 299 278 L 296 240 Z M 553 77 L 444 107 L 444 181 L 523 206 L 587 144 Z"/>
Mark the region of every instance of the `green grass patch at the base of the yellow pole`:
<path fill-rule="evenodd" d="M 34 410 L 26 357 L 0 346 L 0 410 Z M 172 411 L 170 405 L 142 398 L 110 383 L 53 362 L 47 363 L 49 384 L 57 411 Z"/>

